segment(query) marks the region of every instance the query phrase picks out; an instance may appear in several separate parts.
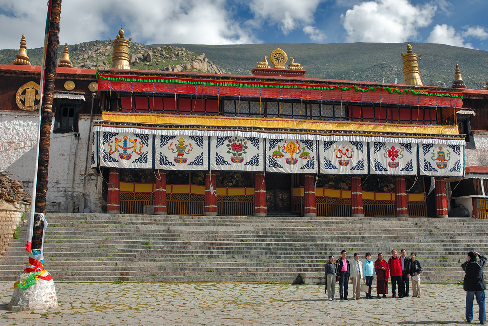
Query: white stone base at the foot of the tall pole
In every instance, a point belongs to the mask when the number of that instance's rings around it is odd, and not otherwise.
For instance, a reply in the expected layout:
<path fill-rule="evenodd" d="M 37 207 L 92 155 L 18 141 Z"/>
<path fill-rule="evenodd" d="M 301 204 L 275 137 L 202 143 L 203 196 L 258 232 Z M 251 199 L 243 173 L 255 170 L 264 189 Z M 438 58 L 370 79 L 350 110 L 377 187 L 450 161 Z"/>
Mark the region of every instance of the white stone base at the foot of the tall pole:
<path fill-rule="evenodd" d="M 20 278 L 19 278 L 20 280 Z M 26 289 L 17 287 L 7 305 L 8 310 L 33 311 L 58 307 L 58 297 L 53 280 L 38 279 L 35 285 Z"/>

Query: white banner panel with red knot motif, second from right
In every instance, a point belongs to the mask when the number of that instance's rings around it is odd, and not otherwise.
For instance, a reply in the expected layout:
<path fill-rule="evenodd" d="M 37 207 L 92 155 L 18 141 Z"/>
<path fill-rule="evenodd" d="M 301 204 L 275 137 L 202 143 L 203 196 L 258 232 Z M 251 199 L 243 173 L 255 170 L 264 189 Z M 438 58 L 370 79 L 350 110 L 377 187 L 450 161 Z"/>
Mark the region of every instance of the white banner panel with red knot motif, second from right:
<path fill-rule="evenodd" d="M 369 143 L 370 173 L 379 175 L 416 175 L 417 144 Z"/>

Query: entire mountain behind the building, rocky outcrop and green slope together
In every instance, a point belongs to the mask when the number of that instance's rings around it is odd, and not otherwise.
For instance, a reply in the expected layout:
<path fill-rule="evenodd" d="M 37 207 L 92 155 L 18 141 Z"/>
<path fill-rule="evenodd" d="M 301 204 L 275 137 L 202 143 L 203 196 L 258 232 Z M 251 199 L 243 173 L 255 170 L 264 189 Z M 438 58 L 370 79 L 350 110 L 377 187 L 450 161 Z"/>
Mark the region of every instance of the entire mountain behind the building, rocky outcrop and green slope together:
<path fill-rule="evenodd" d="M 105 69 L 111 64 L 111 42 L 91 41 L 68 45 L 75 67 Z M 450 87 L 456 64 L 459 64 L 466 87 L 484 89 L 487 81 L 488 51 L 441 44 L 410 43 L 419 61 L 424 85 Z M 171 71 L 209 71 L 249 75 L 264 56 L 276 48 L 302 64 L 306 77 L 379 83 L 403 82 L 402 57 L 407 43 L 333 43 L 333 44 L 251 44 L 251 45 L 190 45 L 131 43 L 134 69 Z M 59 47 L 59 58 L 62 54 Z M 0 50 L 0 64 L 10 64 L 18 50 Z M 28 49 L 33 65 L 41 64 L 41 48 Z M 147 53 L 151 53 L 147 58 Z M 208 59 L 207 59 L 208 58 Z M 147 61 L 150 59 L 150 61 Z M 203 68 L 203 62 L 207 70 Z M 86 65 L 88 63 L 88 65 Z M 194 63 L 192 65 L 192 63 Z M 289 63 L 289 61 L 288 61 Z M 91 65 L 90 65 L 91 64 Z M 200 65 L 199 65 L 200 64 Z M 208 66 L 214 68 L 208 69 Z M 213 69 L 213 71 L 212 71 Z M 391 76 L 393 75 L 393 76 Z"/>

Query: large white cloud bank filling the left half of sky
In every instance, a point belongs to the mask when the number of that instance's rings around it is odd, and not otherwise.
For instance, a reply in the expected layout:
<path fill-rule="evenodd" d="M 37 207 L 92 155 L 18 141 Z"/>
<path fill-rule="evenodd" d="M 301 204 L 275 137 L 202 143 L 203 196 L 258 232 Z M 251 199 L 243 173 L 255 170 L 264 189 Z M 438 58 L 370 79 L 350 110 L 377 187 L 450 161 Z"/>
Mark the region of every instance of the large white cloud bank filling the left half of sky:
<path fill-rule="evenodd" d="M 0 48 L 18 48 L 22 33 L 27 47 L 44 40 L 45 1 L 0 0 Z M 112 39 L 120 27 L 140 43 L 257 43 L 250 31 L 233 20 L 226 0 L 84 0 L 63 1 L 60 43 Z M 17 34 L 13 31 L 19 31 Z"/>

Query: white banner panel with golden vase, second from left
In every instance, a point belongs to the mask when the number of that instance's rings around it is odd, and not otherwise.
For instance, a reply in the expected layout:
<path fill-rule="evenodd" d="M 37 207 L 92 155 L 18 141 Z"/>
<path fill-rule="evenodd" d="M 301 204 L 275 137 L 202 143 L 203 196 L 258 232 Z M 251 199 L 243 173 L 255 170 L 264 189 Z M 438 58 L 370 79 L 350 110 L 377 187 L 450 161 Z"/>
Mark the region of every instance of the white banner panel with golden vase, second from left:
<path fill-rule="evenodd" d="M 155 135 L 155 167 L 161 170 L 208 170 L 206 136 Z"/>

